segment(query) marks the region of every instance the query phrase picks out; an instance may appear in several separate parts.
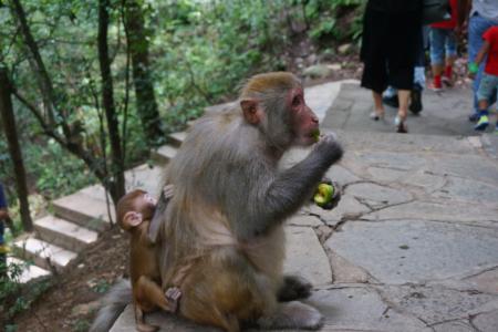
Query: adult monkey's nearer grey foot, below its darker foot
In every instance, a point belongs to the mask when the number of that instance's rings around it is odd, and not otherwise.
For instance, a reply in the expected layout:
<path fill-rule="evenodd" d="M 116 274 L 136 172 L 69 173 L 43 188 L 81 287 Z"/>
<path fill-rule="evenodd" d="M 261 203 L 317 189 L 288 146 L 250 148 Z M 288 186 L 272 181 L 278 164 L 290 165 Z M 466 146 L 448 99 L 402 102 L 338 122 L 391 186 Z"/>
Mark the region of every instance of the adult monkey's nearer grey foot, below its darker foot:
<path fill-rule="evenodd" d="M 272 311 L 264 313 L 258 325 L 262 329 L 304 329 L 319 330 L 323 325 L 323 315 L 313 307 L 299 301 L 279 303 Z"/>

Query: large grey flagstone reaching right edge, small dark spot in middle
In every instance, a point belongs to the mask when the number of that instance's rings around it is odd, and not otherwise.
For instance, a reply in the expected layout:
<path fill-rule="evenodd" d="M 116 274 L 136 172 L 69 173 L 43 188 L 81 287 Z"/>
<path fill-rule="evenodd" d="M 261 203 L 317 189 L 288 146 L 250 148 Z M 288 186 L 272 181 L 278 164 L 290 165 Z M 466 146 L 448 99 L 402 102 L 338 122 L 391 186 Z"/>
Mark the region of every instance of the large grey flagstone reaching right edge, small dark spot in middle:
<path fill-rule="evenodd" d="M 387 284 L 447 279 L 498 264 L 498 230 L 458 224 L 352 221 L 325 246 Z"/>

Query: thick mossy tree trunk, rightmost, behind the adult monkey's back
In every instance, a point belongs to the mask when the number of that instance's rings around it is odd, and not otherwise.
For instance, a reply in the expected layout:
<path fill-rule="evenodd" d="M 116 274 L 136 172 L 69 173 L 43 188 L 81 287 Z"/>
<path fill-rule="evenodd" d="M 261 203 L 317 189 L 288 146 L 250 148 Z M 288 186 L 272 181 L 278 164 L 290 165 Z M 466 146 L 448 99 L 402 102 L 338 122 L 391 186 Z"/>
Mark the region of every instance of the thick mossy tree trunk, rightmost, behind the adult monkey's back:
<path fill-rule="evenodd" d="M 133 66 L 136 108 L 144 134 L 152 145 L 164 139 L 164 131 L 157 110 L 154 85 L 148 62 L 148 33 L 144 27 L 144 14 L 136 0 L 125 1 L 125 30 Z"/>

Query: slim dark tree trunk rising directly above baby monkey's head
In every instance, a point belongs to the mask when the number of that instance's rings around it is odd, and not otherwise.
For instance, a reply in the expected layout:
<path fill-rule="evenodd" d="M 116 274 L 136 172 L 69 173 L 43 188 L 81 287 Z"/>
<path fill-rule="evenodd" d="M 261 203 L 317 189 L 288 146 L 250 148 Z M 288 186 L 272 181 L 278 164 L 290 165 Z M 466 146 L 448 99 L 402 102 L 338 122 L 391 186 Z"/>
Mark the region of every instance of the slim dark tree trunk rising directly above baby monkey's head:
<path fill-rule="evenodd" d="M 121 149 L 120 124 L 114 106 L 113 77 L 111 74 L 111 60 L 108 56 L 107 30 L 108 30 L 108 8 L 110 0 L 98 0 L 98 64 L 102 76 L 102 106 L 105 110 L 107 129 L 111 142 L 111 174 L 110 181 L 111 197 L 116 204 L 125 194 L 124 160 Z"/>

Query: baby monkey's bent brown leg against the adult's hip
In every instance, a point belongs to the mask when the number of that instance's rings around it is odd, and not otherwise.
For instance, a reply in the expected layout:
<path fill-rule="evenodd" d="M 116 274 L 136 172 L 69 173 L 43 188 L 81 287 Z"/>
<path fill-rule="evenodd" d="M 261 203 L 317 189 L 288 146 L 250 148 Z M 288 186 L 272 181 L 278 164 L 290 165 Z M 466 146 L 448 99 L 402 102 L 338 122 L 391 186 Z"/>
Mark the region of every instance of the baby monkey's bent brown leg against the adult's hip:
<path fill-rule="evenodd" d="M 136 282 L 136 293 L 142 301 L 153 304 L 153 307 L 159 307 L 165 311 L 176 311 L 180 293 L 175 293 L 168 298 L 157 283 L 145 276 L 142 276 Z"/>

